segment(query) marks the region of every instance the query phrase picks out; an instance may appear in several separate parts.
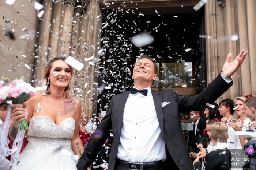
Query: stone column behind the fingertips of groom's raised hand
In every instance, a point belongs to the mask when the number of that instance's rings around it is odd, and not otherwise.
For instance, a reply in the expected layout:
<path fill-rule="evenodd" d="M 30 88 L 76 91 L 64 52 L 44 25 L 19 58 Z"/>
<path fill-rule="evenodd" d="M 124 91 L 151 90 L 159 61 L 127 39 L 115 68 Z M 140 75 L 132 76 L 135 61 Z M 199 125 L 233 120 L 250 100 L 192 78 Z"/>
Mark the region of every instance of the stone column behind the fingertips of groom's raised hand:
<path fill-rule="evenodd" d="M 247 23 L 246 23 L 246 0 L 237 0 L 237 17 L 238 17 L 238 32 L 239 32 L 239 51 L 242 49 L 248 50 L 248 35 L 247 35 Z M 241 65 L 241 77 L 242 83 L 242 96 L 251 94 L 251 77 L 249 56 L 247 55 L 243 64 Z"/>

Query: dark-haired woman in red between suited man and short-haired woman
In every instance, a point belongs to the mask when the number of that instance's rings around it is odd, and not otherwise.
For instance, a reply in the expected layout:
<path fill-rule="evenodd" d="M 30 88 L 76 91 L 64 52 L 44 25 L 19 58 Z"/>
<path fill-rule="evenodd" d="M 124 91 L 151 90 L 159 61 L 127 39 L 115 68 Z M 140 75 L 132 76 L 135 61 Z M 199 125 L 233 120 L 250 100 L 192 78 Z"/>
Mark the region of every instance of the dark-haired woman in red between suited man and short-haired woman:
<path fill-rule="evenodd" d="M 210 120 L 216 120 L 218 122 L 221 122 L 221 115 L 219 114 L 219 110 L 218 110 L 219 109 L 219 105 L 216 104 L 216 103 L 214 103 L 213 105 L 215 106 L 214 108 L 207 107 L 204 110 L 205 117 L 207 118 L 206 124 Z M 207 136 L 207 130 L 206 129 L 203 130 L 203 135 Z"/>

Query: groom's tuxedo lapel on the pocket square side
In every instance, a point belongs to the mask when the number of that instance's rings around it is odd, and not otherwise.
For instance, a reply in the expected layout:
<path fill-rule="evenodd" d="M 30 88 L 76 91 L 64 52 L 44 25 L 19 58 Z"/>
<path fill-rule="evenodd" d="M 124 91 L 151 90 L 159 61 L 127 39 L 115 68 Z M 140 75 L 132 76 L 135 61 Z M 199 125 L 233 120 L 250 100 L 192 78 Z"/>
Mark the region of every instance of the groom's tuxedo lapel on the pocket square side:
<path fill-rule="evenodd" d="M 157 119 L 161 129 L 161 134 L 163 136 L 163 108 L 162 108 L 163 98 L 160 92 L 158 91 L 151 90 L 151 93 L 152 93 L 152 97 L 155 104 L 155 111 L 157 112 Z"/>

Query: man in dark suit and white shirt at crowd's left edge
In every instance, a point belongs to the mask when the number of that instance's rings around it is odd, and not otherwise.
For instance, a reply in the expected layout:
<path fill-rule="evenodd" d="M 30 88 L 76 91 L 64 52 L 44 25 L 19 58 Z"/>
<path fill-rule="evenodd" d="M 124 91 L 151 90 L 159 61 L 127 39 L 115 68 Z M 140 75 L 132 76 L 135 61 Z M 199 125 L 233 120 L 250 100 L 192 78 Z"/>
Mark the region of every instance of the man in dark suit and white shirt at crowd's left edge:
<path fill-rule="evenodd" d="M 199 144 L 199 138 L 203 137 L 203 130 L 206 127 L 206 118 L 202 118 L 202 111 L 191 111 L 190 117 L 192 121 L 194 122 L 194 129 L 193 129 L 193 142 L 192 142 L 192 150 L 191 153 L 189 153 L 190 157 L 196 157 L 196 154 L 200 151 L 197 149 L 197 145 Z"/>

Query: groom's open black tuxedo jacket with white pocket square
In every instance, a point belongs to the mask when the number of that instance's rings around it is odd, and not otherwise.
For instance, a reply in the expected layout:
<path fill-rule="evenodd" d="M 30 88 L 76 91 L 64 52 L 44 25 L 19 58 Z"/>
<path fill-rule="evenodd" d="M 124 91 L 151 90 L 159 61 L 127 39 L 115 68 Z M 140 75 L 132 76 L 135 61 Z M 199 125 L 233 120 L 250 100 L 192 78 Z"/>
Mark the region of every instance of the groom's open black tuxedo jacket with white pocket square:
<path fill-rule="evenodd" d="M 178 95 L 173 89 L 151 91 L 161 134 L 165 141 L 165 146 L 163 147 L 166 147 L 167 159 L 171 158 L 179 169 L 194 170 L 181 127 L 180 113 L 203 110 L 207 107 L 206 103 L 213 103 L 232 84 L 232 82 L 226 83 L 221 75 L 218 75 L 207 88 L 195 96 Z M 78 170 L 87 170 L 87 166 L 91 165 L 91 162 L 94 161 L 102 145 L 109 137 L 110 129 L 113 130 L 113 143 L 109 156 L 108 170 L 114 169 L 120 143 L 124 107 L 129 93 L 130 91 L 125 91 L 112 97 L 107 114 L 101 120 L 97 130 L 86 145 L 82 157 L 79 159 Z M 162 107 L 162 102 L 170 103 Z M 171 157 L 168 158 L 168 155 Z"/>

